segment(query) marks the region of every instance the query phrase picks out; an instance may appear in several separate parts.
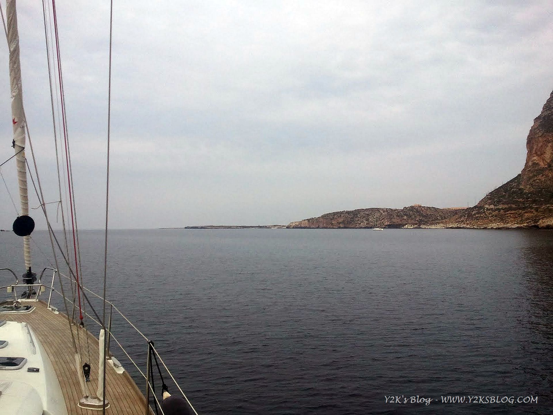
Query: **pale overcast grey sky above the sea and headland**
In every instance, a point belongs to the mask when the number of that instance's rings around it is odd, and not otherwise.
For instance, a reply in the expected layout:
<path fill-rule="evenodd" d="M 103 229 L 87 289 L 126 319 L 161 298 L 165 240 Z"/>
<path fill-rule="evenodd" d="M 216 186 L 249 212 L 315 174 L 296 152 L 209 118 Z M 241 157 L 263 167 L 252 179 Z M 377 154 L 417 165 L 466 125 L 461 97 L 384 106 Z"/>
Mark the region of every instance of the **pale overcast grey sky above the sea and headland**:
<path fill-rule="evenodd" d="M 56 201 L 35 3 L 18 4 L 23 98 L 46 201 Z M 109 3 L 56 6 L 79 226 L 100 229 Z M 3 162 L 13 154 L 6 43 L 0 56 Z M 109 227 L 474 205 L 524 167 L 551 62 L 550 1 L 115 0 Z M 15 199 L 14 160 L 1 169 Z M 0 229 L 16 215 L 0 181 Z"/>

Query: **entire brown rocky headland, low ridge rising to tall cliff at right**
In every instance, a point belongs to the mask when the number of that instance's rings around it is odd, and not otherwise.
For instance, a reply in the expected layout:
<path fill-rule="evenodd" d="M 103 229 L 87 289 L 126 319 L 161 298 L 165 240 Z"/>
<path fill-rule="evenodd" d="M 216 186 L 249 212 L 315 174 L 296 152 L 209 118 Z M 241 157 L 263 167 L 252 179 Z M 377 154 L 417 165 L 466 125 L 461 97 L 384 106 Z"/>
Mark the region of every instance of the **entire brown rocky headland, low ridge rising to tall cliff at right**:
<path fill-rule="evenodd" d="M 413 205 L 327 213 L 289 228 L 540 228 L 553 229 L 553 92 L 526 138 L 520 174 L 475 206 L 451 209 Z"/>

